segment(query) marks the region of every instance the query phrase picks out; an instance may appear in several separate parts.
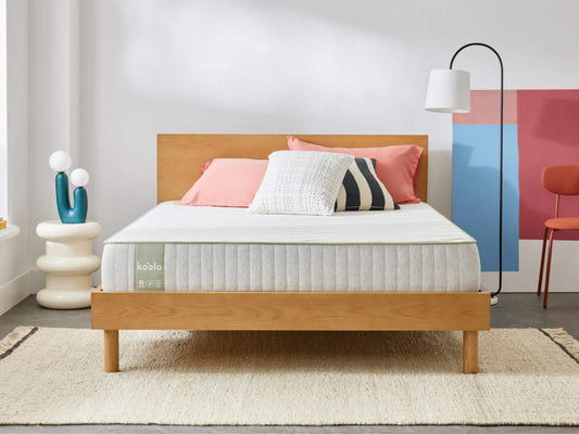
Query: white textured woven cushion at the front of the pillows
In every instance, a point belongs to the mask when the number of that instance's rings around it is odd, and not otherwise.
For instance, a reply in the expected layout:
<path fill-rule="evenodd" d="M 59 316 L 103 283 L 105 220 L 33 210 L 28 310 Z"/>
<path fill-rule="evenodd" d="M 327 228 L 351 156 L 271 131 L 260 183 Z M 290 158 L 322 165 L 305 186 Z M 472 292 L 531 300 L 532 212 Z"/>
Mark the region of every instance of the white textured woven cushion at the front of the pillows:
<path fill-rule="evenodd" d="M 353 161 L 329 152 L 274 152 L 250 212 L 328 216 Z"/>

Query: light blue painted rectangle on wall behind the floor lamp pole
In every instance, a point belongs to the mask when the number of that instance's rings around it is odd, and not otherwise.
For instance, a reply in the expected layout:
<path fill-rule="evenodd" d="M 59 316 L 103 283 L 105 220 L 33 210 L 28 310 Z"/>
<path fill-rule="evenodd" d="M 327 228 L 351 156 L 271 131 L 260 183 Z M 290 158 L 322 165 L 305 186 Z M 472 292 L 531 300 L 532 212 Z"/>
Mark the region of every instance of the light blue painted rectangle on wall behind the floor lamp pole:
<path fill-rule="evenodd" d="M 477 240 L 482 271 L 499 271 L 499 125 L 453 125 L 452 219 Z M 504 126 L 503 270 L 518 271 L 517 126 Z"/>

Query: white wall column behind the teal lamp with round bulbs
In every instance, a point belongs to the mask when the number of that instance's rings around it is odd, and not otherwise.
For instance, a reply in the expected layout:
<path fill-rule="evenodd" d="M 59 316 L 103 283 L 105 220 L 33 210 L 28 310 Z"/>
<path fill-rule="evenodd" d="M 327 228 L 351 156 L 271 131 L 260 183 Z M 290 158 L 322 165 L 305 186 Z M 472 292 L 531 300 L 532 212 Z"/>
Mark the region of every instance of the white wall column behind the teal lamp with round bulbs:
<path fill-rule="evenodd" d="M 28 13 L 28 118 L 32 173 L 28 259 L 32 264 L 45 251 L 36 235 L 42 220 L 58 219 L 55 174 L 48 165 L 50 154 L 67 151 L 76 167 L 79 140 L 79 2 L 78 0 L 29 0 Z M 43 285 L 43 275 L 32 275 L 32 290 Z"/>

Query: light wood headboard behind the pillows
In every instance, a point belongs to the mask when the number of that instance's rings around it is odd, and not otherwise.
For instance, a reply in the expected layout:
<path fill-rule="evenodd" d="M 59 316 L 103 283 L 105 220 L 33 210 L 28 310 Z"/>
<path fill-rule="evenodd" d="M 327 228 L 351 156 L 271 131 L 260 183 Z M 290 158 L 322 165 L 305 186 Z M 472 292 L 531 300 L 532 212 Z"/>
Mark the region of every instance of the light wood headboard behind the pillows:
<path fill-rule="evenodd" d="M 299 139 L 339 148 L 416 144 L 424 148 L 417 195 L 428 191 L 428 136 L 299 135 Z M 286 135 L 158 135 L 156 202 L 180 199 L 201 176 L 201 165 L 213 158 L 267 158 L 287 150 Z"/>

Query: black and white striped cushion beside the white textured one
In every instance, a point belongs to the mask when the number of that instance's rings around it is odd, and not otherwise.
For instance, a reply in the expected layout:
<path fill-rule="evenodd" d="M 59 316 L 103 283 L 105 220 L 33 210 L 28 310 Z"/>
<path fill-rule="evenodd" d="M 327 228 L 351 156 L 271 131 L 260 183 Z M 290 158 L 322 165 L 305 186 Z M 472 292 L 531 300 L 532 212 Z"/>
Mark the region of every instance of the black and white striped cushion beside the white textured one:
<path fill-rule="evenodd" d="M 336 200 L 336 210 L 399 209 L 383 183 L 376 176 L 376 159 L 355 158 L 348 168 Z"/>

